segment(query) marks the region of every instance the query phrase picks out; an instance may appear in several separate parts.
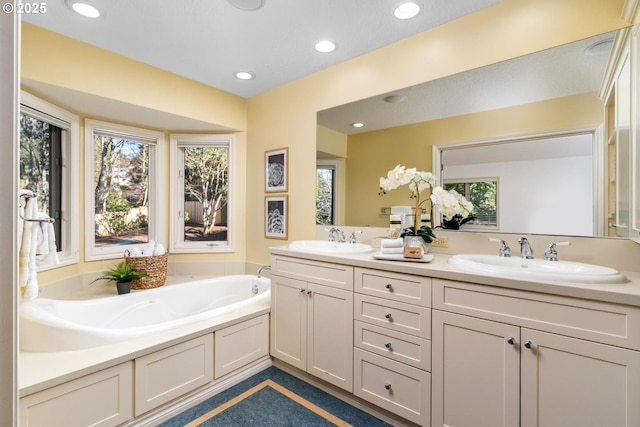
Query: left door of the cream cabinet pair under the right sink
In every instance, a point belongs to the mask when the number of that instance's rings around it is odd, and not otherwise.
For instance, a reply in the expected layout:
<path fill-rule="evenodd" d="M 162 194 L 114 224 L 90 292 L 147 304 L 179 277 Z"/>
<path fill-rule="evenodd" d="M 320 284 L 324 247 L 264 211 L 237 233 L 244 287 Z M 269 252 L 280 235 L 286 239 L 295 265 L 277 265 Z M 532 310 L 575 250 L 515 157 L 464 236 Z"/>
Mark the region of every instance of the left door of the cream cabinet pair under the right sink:
<path fill-rule="evenodd" d="M 517 427 L 520 328 L 437 310 L 432 322 L 431 425 Z"/>

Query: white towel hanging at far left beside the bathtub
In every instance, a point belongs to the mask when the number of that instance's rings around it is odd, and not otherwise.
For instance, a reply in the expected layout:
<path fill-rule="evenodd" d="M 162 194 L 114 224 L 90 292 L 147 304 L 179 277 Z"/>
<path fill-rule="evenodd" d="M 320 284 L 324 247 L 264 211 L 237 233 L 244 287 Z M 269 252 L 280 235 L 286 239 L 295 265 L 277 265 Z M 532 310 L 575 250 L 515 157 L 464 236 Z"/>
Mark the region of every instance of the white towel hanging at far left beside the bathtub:
<path fill-rule="evenodd" d="M 20 213 L 27 219 L 36 218 L 37 204 L 35 197 L 26 199 Z M 23 288 L 23 299 L 33 299 L 38 296 L 38 273 L 36 270 L 38 236 L 34 230 L 37 223 L 22 220 L 19 222 L 23 223 L 20 243 L 20 286 Z"/>

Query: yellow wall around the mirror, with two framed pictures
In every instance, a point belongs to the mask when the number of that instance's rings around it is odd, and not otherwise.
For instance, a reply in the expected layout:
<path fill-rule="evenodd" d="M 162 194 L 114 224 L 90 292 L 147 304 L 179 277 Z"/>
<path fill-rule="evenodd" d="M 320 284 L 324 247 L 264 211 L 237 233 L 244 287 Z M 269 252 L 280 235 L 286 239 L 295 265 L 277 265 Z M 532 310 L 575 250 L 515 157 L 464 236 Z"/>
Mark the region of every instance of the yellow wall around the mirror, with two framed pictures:
<path fill-rule="evenodd" d="M 289 146 L 295 177 L 289 181 L 289 239 L 314 238 L 317 111 L 627 26 L 622 6 L 623 0 L 504 0 L 252 97 L 247 165 L 260 170 L 264 150 Z M 247 197 L 247 209 L 260 212 L 261 191 Z M 249 223 L 247 235 L 251 261 L 268 261 L 267 248 L 283 244 L 265 239 L 260 222 Z"/>

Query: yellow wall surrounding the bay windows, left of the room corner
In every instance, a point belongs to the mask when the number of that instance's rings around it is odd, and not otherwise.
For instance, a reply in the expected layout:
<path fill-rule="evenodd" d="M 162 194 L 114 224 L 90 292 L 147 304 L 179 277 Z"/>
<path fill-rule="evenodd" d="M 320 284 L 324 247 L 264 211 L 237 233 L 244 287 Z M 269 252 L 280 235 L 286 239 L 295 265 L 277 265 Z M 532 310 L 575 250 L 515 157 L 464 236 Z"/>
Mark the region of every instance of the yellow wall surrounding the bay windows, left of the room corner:
<path fill-rule="evenodd" d="M 194 82 L 138 61 L 116 55 L 106 50 L 79 42 L 77 40 L 44 30 L 40 27 L 23 23 L 21 35 L 21 78 L 49 85 L 59 86 L 90 95 L 112 99 L 119 102 L 151 110 L 166 112 L 177 116 L 189 117 L 200 121 L 236 129 L 235 164 L 236 171 L 234 221 L 236 224 L 235 252 L 230 254 L 181 254 L 170 255 L 173 262 L 181 261 L 226 261 L 246 259 L 246 157 L 247 157 L 247 115 L 246 100 Z M 42 64 L 46 64 L 43 66 Z M 38 93 L 34 93 L 38 95 Z M 46 97 L 45 97 L 46 99 Z M 48 99 L 47 99 L 48 100 Z M 65 108 L 64 100 L 48 100 Z M 68 107 L 67 107 L 68 108 Z M 86 118 L 81 111 L 73 111 L 81 118 Z M 91 117 L 95 118 L 95 117 Z M 107 117 L 97 117 L 109 121 Z M 128 121 L 136 125 L 135 117 Z M 118 123 L 118 122 L 116 122 Z M 162 168 L 169 170 L 169 132 L 188 131 L 189 129 L 157 129 L 165 132 L 167 143 L 165 150 L 166 164 Z M 84 161 L 84 132 L 81 129 L 80 151 L 81 163 Z M 81 185 L 87 181 L 81 168 Z M 164 183 L 170 188 L 169 174 Z M 84 188 L 80 189 L 81 198 Z M 169 197 L 164 206 L 165 217 L 169 217 Z M 81 201 L 80 207 L 84 203 Z M 84 220 L 84 211 L 80 213 Z M 46 284 L 65 277 L 88 271 L 103 270 L 113 260 L 85 263 L 84 238 L 85 227 L 80 227 L 80 260 L 78 265 L 57 268 L 38 275 L 41 284 Z M 169 236 L 169 224 L 165 225 L 166 236 Z M 164 242 L 168 246 L 168 241 Z"/>

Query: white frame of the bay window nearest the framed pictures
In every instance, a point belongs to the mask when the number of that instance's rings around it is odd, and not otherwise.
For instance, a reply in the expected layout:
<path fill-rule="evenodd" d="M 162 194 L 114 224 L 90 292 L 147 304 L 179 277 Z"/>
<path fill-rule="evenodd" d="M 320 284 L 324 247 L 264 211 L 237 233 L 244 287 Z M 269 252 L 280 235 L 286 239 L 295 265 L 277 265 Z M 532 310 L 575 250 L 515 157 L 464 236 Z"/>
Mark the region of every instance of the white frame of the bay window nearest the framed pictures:
<path fill-rule="evenodd" d="M 234 245 L 235 200 L 235 137 L 231 134 L 170 134 L 170 201 L 169 201 L 169 251 L 173 253 L 231 253 Z M 220 242 L 190 242 L 184 240 L 184 154 L 181 147 L 226 146 L 229 150 L 227 196 L 227 240 Z"/>

